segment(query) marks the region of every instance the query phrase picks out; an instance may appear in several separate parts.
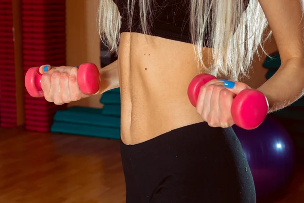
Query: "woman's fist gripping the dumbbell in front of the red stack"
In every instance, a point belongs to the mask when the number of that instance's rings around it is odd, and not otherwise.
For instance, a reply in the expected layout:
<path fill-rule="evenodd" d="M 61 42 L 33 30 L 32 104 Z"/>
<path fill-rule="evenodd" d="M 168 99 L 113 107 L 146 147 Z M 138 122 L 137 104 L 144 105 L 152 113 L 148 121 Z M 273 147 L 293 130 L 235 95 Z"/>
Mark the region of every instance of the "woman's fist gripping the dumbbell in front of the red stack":
<path fill-rule="evenodd" d="M 77 83 L 77 66 L 51 67 L 51 65 L 42 65 L 39 72 L 43 74 L 41 87 L 47 101 L 62 105 L 90 96 L 80 91 Z"/>

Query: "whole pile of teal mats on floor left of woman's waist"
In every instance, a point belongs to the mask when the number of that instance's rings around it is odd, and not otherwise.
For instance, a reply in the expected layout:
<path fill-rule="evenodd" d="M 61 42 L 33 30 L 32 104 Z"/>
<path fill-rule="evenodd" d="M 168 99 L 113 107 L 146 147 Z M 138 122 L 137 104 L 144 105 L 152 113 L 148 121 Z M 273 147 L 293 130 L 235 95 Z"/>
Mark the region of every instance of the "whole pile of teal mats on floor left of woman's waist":
<path fill-rule="evenodd" d="M 100 102 L 104 104 L 102 109 L 71 107 L 57 111 L 51 131 L 120 139 L 120 89 L 105 92 Z"/>

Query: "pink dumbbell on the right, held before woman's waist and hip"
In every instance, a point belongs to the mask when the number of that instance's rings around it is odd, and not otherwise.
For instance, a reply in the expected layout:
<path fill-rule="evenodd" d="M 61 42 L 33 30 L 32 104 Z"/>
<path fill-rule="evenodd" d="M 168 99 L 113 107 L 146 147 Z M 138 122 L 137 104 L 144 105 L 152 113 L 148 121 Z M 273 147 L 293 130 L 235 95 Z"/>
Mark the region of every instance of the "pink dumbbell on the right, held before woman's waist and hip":
<path fill-rule="evenodd" d="M 196 107 L 201 87 L 216 77 L 209 74 L 196 76 L 188 87 L 188 97 Z M 236 125 L 243 129 L 254 129 L 265 119 L 268 113 L 268 101 L 263 93 L 254 89 L 244 89 L 233 100 L 231 115 Z"/>

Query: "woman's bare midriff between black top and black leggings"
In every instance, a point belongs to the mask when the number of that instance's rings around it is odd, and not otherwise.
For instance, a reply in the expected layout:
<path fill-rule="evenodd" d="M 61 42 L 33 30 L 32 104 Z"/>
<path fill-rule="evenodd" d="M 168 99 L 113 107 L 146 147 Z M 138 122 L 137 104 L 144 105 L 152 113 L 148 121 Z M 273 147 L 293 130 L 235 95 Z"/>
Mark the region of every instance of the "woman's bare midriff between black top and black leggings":
<path fill-rule="evenodd" d="M 204 56 L 210 52 L 205 48 Z M 199 74 L 192 44 L 122 33 L 118 66 L 125 144 L 202 121 L 187 96 L 189 83 Z"/>

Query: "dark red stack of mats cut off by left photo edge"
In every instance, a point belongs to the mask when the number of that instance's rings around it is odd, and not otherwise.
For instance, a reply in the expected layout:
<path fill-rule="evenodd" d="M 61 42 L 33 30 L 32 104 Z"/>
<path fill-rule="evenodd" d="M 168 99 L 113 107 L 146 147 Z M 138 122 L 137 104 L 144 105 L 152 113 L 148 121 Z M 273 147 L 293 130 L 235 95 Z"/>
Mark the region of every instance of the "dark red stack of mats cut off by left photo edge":
<path fill-rule="evenodd" d="M 12 0 L 0 1 L 0 126 L 17 125 Z"/>

